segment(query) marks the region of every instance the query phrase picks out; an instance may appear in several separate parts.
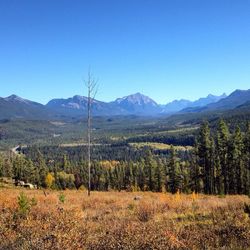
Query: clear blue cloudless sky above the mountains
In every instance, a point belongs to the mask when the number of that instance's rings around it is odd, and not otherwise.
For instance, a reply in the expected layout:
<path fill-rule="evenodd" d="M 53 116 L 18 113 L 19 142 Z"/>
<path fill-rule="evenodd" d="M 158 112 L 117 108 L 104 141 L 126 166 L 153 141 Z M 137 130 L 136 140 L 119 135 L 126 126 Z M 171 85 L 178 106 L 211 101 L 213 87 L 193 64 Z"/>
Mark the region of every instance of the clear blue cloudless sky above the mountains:
<path fill-rule="evenodd" d="M 0 96 L 135 92 L 158 103 L 250 88 L 249 0 L 1 0 Z"/>

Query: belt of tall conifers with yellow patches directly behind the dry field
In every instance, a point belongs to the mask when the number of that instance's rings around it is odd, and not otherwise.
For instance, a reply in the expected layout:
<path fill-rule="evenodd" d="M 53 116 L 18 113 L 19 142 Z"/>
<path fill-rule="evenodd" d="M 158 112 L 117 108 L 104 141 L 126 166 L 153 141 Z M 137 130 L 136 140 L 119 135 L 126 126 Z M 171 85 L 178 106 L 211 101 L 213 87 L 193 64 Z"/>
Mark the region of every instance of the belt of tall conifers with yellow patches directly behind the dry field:
<path fill-rule="evenodd" d="M 0 177 L 54 189 L 86 188 L 86 147 L 30 147 L 0 157 Z M 229 132 L 221 120 L 211 133 L 204 122 L 191 151 L 140 150 L 128 144 L 93 147 L 92 190 L 250 193 L 250 123 Z"/>

